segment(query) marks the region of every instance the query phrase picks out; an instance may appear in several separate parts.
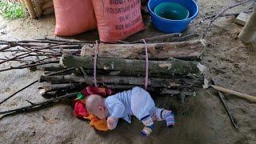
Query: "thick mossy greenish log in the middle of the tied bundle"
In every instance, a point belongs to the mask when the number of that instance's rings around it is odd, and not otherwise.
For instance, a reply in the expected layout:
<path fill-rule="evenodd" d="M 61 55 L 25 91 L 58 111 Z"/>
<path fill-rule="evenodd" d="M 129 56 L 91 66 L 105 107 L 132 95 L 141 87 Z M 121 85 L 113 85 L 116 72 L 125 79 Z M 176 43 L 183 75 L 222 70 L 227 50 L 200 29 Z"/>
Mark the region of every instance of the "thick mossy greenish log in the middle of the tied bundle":
<path fill-rule="evenodd" d="M 78 57 L 72 54 L 63 54 L 60 62 L 64 67 L 83 67 L 93 69 L 93 57 Z M 114 70 L 120 75 L 143 76 L 146 71 L 146 62 L 138 59 L 124 58 L 98 58 L 98 70 Z M 175 75 L 200 74 L 198 62 L 183 61 L 180 59 L 170 58 L 166 61 L 149 61 L 150 77 L 168 77 Z"/>

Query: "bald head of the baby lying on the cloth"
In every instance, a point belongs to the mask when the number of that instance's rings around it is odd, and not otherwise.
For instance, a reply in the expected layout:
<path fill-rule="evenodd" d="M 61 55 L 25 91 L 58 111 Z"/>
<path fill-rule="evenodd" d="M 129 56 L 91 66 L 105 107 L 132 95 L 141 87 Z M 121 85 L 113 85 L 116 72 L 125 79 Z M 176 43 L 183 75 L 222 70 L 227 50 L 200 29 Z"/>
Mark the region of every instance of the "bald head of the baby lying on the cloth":
<path fill-rule="evenodd" d="M 104 99 L 97 94 L 91 94 L 86 98 L 86 110 L 100 119 L 104 119 L 108 115 Z"/>

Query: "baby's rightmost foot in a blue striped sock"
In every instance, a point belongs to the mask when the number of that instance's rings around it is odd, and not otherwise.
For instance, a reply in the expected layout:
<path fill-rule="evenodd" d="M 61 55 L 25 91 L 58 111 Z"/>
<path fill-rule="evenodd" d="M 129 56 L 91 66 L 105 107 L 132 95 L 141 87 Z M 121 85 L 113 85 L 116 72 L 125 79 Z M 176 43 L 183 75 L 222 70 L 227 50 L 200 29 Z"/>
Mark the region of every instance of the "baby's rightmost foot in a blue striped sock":
<path fill-rule="evenodd" d="M 174 113 L 171 110 L 157 109 L 155 110 L 155 117 L 157 121 L 166 121 L 167 127 L 173 127 L 175 124 Z"/>

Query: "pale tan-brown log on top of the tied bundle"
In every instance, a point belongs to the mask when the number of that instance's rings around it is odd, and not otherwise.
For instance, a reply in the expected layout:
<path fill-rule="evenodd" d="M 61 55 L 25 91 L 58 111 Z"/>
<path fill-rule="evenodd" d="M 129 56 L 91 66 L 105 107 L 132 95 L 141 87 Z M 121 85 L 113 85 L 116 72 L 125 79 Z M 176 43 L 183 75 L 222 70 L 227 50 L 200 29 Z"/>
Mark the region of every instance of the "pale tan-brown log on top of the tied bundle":
<path fill-rule="evenodd" d="M 204 45 L 200 40 L 188 42 L 150 43 L 148 54 L 150 59 L 183 58 L 198 59 Z M 94 45 L 82 47 L 82 56 L 94 55 Z M 135 58 L 145 59 L 144 44 L 99 44 L 98 56 L 102 58 Z"/>

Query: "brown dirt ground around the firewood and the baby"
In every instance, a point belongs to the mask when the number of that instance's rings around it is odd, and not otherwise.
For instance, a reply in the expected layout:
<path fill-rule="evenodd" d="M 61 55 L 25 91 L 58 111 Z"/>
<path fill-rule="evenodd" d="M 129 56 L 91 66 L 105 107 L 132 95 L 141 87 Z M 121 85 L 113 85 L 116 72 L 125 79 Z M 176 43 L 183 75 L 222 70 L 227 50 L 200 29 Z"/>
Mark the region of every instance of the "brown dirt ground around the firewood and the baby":
<path fill-rule="evenodd" d="M 237 0 L 199 0 L 200 14 L 185 33 L 202 34 L 208 22 L 203 17 L 216 14 Z M 240 6 L 229 12 L 245 10 Z M 206 49 L 202 64 L 206 66 L 205 77 L 215 78 L 216 85 L 256 95 L 256 49 L 238 40 L 242 30 L 234 18 L 220 18 L 214 22 L 206 36 Z M 145 19 L 147 29 L 130 39 L 146 38 L 160 34 Z M 31 20 L 30 18 L 6 21 L 0 17 L 0 39 L 25 40 L 54 37 L 54 16 Z M 97 31 L 80 34 L 76 39 L 97 39 Z M 2 58 L 3 55 L 0 54 Z M 0 68 L 10 66 L 6 63 Z M 13 94 L 23 85 L 33 82 L 41 72 L 14 70 L 0 73 L 0 101 Z M 0 110 L 14 109 L 42 102 L 38 84 L 30 86 L 0 106 Z M 256 143 L 256 104 L 226 94 L 230 111 L 234 114 L 239 130 L 234 130 L 230 119 L 214 90 L 198 90 L 196 97 L 186 98 L 184 103 L 176 97 L 154 96 L 157 106 L 177 109 L 177 125 L 167 129 L 165 122 L 156 123 L 149 138 L 142 138 L 142 124 L 133 118 L 132 125 L 120 121 L 116 130 L 98 132 L 75 118 L 72 107 L 62 103 L 43 110 L 0 118 L 0 143 Z"/>

